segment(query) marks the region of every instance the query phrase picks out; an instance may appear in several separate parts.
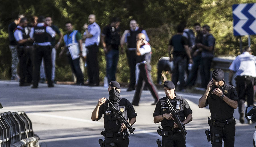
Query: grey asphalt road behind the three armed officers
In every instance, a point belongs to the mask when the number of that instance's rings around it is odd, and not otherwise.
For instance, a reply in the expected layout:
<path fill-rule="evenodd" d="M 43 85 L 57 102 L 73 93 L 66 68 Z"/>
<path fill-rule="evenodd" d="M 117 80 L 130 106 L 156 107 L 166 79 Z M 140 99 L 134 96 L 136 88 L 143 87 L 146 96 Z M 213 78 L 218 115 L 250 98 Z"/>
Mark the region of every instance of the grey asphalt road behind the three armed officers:
<path fill-rule="evenodd" d="M 121 89 L 121 97 L 132 101 L 134 91 L 126 92 Z M 164 91 L 158 92 L 160 97 Z M 188 123 L 186 138 L 187 147 L 211 146 L 207 142 L 205 129 L 209 128 L 207 118 L 208 108 L 198 107 L 199 94 L 177 93 L 183 96 L 193 110 L 193 120 Z M 23 110 L 32 121 L 34 133 L 40 137 L 41 147 L 99 147 L 98 140 L 104 137 L 103 117 L 99 121 L 90 119 L 98 99 L 108 98 L 104 87 L 87 87 L 73 85 L 55 85 L 48 88 L 39 84 L 38 89 L 19 87 L 18 82 L 0 81 L 0 102 L 3 109 L 0 112 Z M 139 106 L 135 106 L 137 121 L 134 134 L 130 135 L 130 147 L 156 147 L 156 140 L 161 137 L 156 133 L 160 123 L 153 122 L 155 106 L 150 104 L 153 98 L 149 91 L 143 91 Z M 238 120 L 238 110 L 234 117 L 237 119 L 235 147 L 253 146 L 254 124 L 241 124 Z"/>

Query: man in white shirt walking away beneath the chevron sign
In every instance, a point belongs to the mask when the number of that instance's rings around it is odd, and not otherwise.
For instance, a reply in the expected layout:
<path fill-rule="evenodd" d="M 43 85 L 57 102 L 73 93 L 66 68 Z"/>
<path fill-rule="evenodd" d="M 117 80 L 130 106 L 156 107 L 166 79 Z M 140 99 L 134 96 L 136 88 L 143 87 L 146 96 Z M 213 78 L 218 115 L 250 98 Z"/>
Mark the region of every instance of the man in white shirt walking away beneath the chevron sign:
<path fill-rule="evenodd" d="M 244 123 L 244 102 L 247 97 L 247 106 L 253 105 L 253 86 L 256 77 L 256 57 L 252 55 L 252 49 L 245 47 L 243 53 L 238 55 L 229 67 L 229 83 L 232 84 L 233 74 L 236 74 L 236 91 L 238 93 L 238 111 L 240 122 Z M 251 121 L 248 120 L 248 123 Z"/>

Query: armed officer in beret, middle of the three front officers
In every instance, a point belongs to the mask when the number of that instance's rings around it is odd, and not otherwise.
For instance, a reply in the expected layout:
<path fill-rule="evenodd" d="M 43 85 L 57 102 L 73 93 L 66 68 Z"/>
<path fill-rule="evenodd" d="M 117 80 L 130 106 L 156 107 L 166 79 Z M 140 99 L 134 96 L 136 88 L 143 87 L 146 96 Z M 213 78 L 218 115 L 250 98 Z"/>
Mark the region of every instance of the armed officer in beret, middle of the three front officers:
<path fill-rule="evenodd" d="M 156 103 L 156 108 L 153 113 L 154 123 L 161 122 L 161 126 L 163 127 L 162 131 L 168 132 L 168 135 L 162 136 L 162 146 L 185 147 L 185 139 L 183 138 L 183 135 L 180 132 L 177 123 L 174 122 L 174 117 L 170 113 L 170 108 L 167 104 L 167 98 L 169 98 L 171 104 L 174 107 L 179 107 L 177 109 L 177 112 L 181 117 L 183 125 L 192 121 L 192 110 L 190 109 L 187 101 L 183 97 L 176 95 L 176 93 L 174 93 L 174 90 L 175 86 L 172 81 L 164 82 L 164 92 L 166 94 L 166 97 L 159 99 L 159 101 Z"/>

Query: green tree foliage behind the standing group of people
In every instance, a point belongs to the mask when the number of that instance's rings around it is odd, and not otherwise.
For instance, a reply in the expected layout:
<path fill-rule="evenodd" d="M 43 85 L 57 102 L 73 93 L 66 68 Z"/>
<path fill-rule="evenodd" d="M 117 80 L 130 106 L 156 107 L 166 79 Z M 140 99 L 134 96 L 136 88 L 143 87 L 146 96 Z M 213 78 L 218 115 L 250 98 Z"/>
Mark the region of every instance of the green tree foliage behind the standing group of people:
<path fill-rule="evenodd" d="M 152 45 L 152 77 L 156 80 L 157 60 L 168 56 L 167 46 L 175 26 L 187 22 L 193 28 L 195 22 L 208 24 L 216 38 L 215 55 L 239 54 L 239 37 L 233 35 L 232 5 L 254 3 L 253 0 L 0 0 L 0 79 L 11 76 L 11 53 L 8 49 L 8 25 L 19 14 L 27 17 L 36 15 L 51 16 L 54 24 L 65 33 L 64 24 L 71 21 L 76 30 L 84 32 L 82 26 L 89 14 L 96 15 L 96 22 L 101 29 L 110 23 L 113 16 L 120 17 L 121 30 L 129 28 L 129 20 L 135 18 L 144 28 Z M 247 36 L 242 37 L 243 46 L 247 45 Z M 251 36 L 251 47 L 255 49 L 255 36 Z M 63 44 L 63 43 L 62 43 Z M 59 50 L 57 51 L 59 53 Z M 119 56 L 117 81 L 129 82 L 129 67 L 125 54 Z M 102 47 L 99 52 L 100 78 L 103 80 L 106 61 Z M 57 58 L 56 79 L 71 80 L 72 74 L 65 58 Z M 85 74 L 85 79 L 87 79 Z"/>

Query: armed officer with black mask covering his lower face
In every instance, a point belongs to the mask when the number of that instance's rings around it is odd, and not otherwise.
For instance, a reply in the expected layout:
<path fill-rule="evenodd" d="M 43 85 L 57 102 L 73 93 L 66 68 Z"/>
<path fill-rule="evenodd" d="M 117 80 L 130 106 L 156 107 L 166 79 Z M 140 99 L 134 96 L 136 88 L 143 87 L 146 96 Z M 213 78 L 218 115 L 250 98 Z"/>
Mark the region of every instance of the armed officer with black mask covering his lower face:
<path fill-rule="evenodd" d="M 125 98 L 121 98 L 119 93 L 121 91 L 120 85 L 117 81 L 111 81 L 109 83 L 109 100 L 119 110 L 123 116 L 128 120 L 130 125 L 133 125 L 136 121 L 136 112 L 129 102 Z M 124 123 L 120 123 L 117 118 L 114 117 L 112 111 L 108 108 L 108 102 L 106 98 L 102 97 L 99 99 L 96 108 L 92 112 L 91 119 L 93 121 L 100 120 L 104 114 L 104 136 L 105 136 L 105 147 L 128 147 L 129 145 L 129 134 L 126 131 L 126 126 Z M 121 127 L 121 134 L 118 131 Z M 103 135 L 103 134 L 102 134 Z"/>

